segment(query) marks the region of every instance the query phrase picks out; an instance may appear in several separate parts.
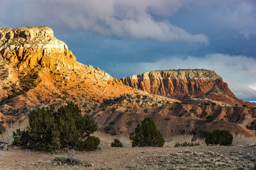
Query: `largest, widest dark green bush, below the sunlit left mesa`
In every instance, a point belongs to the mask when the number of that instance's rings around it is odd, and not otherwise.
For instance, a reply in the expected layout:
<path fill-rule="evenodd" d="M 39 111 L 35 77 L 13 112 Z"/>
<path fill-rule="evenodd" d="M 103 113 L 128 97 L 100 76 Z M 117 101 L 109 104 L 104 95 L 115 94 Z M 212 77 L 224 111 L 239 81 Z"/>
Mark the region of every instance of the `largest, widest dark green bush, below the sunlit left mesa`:
<path fill-rule="evenodd" d="M 68 103 L 54 112 L 54 107 L 31 111 L 26 130 L 13 132 L 13 145 L 33 150 L 95 150 L 99 138 L 90 136 L 97 130 L 92 117 L 83 117 L 74 103 Z"/>

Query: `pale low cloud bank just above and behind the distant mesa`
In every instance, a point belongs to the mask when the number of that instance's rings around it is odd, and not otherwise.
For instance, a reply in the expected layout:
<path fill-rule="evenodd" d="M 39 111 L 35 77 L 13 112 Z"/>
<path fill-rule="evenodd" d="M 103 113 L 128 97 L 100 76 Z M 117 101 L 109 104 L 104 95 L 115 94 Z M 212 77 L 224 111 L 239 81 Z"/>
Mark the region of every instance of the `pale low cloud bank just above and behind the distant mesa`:
<path fill-rule="evenodd" d="M 237 97 L 256 99 L 256 92 L 252 90 L 252 88 L 256 89 L 256 86 L 253 86 L 256 85 L 256 59 L 246 56 L 231 56 L 220 53 L 205 57 L 172 56 L 156 62 L 120 64 L 114 69 L 116 72 L 125 71 L 130 74 L 163 69 L 211 69 L 228 82 L 230 89 Z M 111 72 L 113 71 L 111 70 Z"/>

